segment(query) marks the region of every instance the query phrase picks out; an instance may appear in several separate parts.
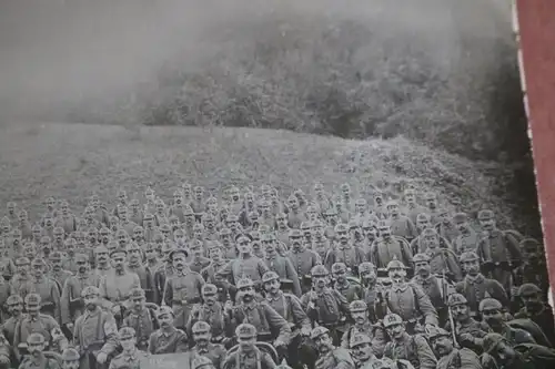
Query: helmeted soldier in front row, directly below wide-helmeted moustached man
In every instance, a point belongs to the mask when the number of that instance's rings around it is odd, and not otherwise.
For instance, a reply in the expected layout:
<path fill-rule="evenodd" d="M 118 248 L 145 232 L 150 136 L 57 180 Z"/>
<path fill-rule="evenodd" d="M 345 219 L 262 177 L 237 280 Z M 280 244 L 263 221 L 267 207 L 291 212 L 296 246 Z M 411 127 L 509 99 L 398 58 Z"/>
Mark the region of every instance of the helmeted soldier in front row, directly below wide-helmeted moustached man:
<path fill-rule="evenodd" d="M 408 335 L 398 315 L 386 315 L 383 325 L 392 339 L 385 345 L 385 357 L 392 360 L 407 360 L 415 369 L 436 368 L 437 360 L 426 339 L 420 335 Z"/>

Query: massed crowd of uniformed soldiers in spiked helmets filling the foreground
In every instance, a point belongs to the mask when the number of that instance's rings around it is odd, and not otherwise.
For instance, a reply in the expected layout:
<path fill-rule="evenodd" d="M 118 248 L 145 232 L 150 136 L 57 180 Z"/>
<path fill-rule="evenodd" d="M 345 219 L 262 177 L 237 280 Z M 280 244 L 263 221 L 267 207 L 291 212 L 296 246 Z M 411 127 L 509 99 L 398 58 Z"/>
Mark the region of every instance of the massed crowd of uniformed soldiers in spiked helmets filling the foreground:
<path fill-rule="evenodd" d="M 415 185 L 215 197 L 148 187 L 0 219 L 0 368 L 495 369 L 555 363 L 538 242 Z M 184 363 L 185 365 L 185 363 Z"/>

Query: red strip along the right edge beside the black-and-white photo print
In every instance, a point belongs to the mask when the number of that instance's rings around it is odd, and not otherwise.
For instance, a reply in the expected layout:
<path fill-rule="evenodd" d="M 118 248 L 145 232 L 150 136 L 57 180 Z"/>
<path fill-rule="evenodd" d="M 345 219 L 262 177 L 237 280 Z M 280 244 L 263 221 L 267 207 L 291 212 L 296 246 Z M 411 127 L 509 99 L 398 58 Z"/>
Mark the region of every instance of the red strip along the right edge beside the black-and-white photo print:
<path fill-rule="evenodd" d="M 522 51 L 521 74 L 527 100 L 542 228 L 555 285 L 555 1 L 516 0 Z"/>

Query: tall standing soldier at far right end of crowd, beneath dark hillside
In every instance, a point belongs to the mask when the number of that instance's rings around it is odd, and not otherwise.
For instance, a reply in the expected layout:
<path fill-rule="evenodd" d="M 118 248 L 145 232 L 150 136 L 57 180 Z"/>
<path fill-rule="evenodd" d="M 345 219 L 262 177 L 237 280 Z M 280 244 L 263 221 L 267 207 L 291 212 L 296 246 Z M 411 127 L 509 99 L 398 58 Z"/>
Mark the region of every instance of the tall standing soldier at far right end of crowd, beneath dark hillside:
<path fill-rule="evenodd" d="M 484 236 L 480 239 L 477 255 L 490 277 L 500 281 L 507 293 L 513 286 L 512 271 L 518 267 L 522 253 L 518 239 L 513 233 L 497 228 L 492 211 L 481 211 L 478 221 L 484 229 Z"/>

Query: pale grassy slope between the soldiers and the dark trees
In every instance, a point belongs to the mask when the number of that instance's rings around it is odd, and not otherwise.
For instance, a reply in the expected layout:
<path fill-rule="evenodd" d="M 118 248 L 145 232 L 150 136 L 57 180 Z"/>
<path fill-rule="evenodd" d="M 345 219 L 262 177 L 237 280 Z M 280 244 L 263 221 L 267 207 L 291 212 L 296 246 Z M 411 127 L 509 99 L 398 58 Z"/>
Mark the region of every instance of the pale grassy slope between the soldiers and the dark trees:
<path fill-rule="evenodd" d="M 254 129 L 141 127 L 118 125 L 13 125 L 0 131 L 0 202 L 13 199 L 42 213 L 53 195 L 81 212 L 98 193 L 112 203 L 121 187 L 142 196 L 147 185 L 165 199 L 182 181 L 211 191 L 271 183 L 282 194 L 315 181 L 329 189 L 349 182 L 362 195 L 374 186 L 392 196 L 408 181 L 434 191 L 447 207 L 496 209 L 501 223 L 523 229 L 495 178 L 476 164 L 397 137 L 351 141 Z M 457 205 L 457 202 L 461 205 Z"/>

